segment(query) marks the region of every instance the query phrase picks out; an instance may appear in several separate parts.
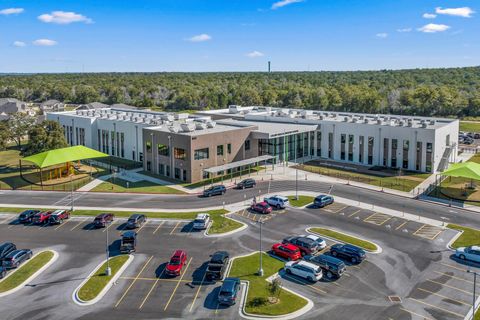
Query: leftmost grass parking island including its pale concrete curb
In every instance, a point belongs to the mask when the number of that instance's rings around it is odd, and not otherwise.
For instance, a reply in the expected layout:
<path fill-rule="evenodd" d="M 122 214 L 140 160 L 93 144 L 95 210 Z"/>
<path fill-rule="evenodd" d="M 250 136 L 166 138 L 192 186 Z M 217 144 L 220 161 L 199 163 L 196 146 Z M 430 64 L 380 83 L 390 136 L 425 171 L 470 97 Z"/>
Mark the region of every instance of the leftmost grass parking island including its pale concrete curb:
<path fill-rule="evenodd" d="M 18 269 L 11 270 L 7 276 L 0 281 L 0 297 L 20 290 L 25 284 L 40 275 L 40 273 L 55 262 L 57 258 L 58 253 L 55 251 L 41 251 L 23 263 Z"/>

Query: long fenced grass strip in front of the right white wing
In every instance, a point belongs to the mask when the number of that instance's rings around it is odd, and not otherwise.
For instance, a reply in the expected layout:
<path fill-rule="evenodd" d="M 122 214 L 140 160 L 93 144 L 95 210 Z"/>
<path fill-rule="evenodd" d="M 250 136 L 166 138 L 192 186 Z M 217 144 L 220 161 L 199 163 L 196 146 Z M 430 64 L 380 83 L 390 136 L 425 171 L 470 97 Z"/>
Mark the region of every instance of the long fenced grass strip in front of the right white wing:
<path fill-rule="evenodd" d="M 348 170 L 340 170 L 329 167 L 312 165 L 298 166 L 300 170 L 331 176 L 344 180 L 351 180 L 371 184 L 373 186 L 395 189 L 400 191 L 411 191 L 430 176 L 429 173 L 415 173 L 402 176 L 381 177 L 365 173 L 357 173 Z"/>

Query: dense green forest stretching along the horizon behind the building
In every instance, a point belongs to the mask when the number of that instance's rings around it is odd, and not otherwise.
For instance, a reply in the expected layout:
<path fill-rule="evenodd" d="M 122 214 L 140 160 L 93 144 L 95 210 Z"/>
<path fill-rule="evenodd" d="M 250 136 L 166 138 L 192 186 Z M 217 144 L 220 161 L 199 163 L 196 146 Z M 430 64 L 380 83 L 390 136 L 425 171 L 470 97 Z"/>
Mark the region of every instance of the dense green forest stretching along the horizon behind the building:
<path fill-rule="evenodd" d="M 230 104 L 480 116 L 480 67 L 351 72 L 5 74 L 0 97 L 168 111 Z"/>

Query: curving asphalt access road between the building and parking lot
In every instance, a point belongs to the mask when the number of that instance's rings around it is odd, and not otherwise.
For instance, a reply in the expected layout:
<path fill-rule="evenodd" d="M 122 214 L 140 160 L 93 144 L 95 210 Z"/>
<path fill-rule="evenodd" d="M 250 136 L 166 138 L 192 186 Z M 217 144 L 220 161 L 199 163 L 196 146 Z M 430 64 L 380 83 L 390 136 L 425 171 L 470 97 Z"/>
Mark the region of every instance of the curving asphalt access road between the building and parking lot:
<path fill-rule="evenodd" d="M 328 192 L 329 184 L 314 181 L 299 181 L 299 190 Z M 274 180 L 260 182 L 255 189 L 228 190 L 224 196 L 201 198 L 196 195 L 125 195 L 114 193 L 75 193 L 75 203 L 88 207 L 115 207 L 115 208 L 152 208 L 152 209 L 195 209 L 236 203 L 253 195 L 262 195 L 267 192 L 295 190 L 295 181 Z M 470 227 L 480 226 L 480 214 L 460 208 L 433 204 L 425 201 L 408 199 L 378 191 L 359 187 L 334 184 L 333 195 L 359 200 L 376 206 L 382 206 L 397 211 L 404 211 L 445 222 L 454 222 Z M 0 203 L 26 205 L 69 205 L 68 192 L 41 192 L 41 191 L 0 191 Z"/>

